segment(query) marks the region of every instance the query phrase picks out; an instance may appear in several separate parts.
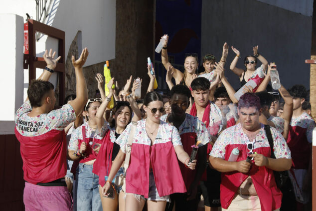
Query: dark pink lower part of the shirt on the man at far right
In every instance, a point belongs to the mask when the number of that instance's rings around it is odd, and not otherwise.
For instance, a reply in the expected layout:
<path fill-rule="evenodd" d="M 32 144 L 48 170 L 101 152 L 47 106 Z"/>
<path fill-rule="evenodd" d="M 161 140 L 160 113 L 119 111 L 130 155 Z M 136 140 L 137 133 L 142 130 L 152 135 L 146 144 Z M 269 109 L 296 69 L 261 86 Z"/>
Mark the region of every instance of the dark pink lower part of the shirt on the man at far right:
<path fill-rule="evenodd" d="M 311 144 L 306 136 L 307 128 L 290 126 L 288 146 L 291 150 L 292 165 L 295 169 L 308 169 L 311 157 Z"/>

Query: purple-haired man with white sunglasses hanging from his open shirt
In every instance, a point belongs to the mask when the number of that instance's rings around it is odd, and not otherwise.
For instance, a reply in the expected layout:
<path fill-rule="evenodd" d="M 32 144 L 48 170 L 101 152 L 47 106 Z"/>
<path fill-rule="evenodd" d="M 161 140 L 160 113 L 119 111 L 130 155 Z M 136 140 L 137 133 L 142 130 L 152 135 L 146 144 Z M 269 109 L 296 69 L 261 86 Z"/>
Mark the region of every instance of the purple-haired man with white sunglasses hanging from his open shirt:
<path fill-rule="evenodd" d="M 259 122 L 261 112 L 258 96 L 254 93 L 242 95 L 238 103 L 240 123 L 225 129 L 210 153 L 211 168 L 222 172 L 220 199 L 223 211 L 278 211 L 281 207 L 282 193 L 273 171 L 291 168 L 291 151 L 281 133 L 271 127 L 276 159 L 271 158 L 264 125 Z M 236 148 L 238 157 L 228 161 Z"/>

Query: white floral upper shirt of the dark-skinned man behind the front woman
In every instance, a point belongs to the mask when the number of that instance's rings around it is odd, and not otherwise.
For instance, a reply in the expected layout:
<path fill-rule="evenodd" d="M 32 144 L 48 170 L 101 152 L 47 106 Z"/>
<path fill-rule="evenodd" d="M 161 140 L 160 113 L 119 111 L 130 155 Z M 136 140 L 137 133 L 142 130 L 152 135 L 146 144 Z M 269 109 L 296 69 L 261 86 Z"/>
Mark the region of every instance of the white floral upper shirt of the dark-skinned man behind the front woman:
<path fill-rule="evenodd" d="M 160 117 L 160 120 L 166 121 L 168 114 Z M 207 132 L 206 126 L 197 117 L 185 113 L 185 119 L 180 125 L 178 132 L 180 135 L 184 133 L 196 133 L 196 138 L 201 145 L 205 145 L 211 141 L 210 135 Z"/>

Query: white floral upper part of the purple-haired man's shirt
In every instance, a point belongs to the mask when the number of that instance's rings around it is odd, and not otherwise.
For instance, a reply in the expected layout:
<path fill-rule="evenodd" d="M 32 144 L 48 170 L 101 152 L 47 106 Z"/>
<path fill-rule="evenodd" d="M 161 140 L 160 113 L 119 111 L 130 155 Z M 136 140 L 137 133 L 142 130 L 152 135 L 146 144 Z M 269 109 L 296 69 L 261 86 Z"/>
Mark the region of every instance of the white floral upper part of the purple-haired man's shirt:
<path fill-rule="evenodd" d="M 271 127 L 271 134 L 274 140 L 274 154 L 276 158 L 291 159 L 291 151 L 282 134 L 275 128 Z M 217 138 L 210 156 L 225 159 L 226 146 L 233 144 L 248 144 L 250 143 L 247 135 L 243 132 L 241 124 L 237 124 L 224 130 Z M 264 125 L 261 124 L 261 129 L 252 141 L 253 148 L 270 147 Z M 229 157 L 229 156 L 228 156 Z"/>

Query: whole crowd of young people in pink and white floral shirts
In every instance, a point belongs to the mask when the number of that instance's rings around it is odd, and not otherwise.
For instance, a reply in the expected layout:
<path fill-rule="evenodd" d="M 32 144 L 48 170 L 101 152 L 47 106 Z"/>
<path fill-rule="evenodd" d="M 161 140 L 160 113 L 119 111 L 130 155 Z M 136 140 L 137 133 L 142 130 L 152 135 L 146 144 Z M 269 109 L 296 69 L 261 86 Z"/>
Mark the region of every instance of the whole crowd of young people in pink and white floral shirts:
<path fill-rule="evenodd" d="M 161 61 L 169 92 L 154 91 L 155 69 L 151 74 L 149 66 L 150 85 L 142 99 L 135 96 L 140 84 L 132 76 L 123 89 L 112 78 L 106 95 L 101 74 L 96 75 L 100 96 L 88 99 L 82 70 L 85 48 L 77 60 L 72 57 L 76 95 L 68 96 L 59 109 L 54 109 L 54 87 L 48 79 L 60 57 L 45 51 L 47 66 L 29 85 L 15 117 L 26 211 L 307 207 L 316 123 L 306 88 L 287 90 L 281 85 L 272 90 L 270 73 L 276 64 L 268 64 L 255 46 L 253 55 L 244 59 L 244 69 L 237 68 L 240 52 L 232 46 L 236 57 L 230 69 L 241 86 L 249 80 L 256 83 L 237 99 L 225 77 L 227 43 L 219 62 L 212 54 L 203 57 L 201 73 L 197 55 L 187 54 L 182 73 L 168 62 L 167 42 L 168 37 Z M 258 60 L 262 64 L 257 68 Z M 275 172 L 288 178 L 282 187 Z"/>

